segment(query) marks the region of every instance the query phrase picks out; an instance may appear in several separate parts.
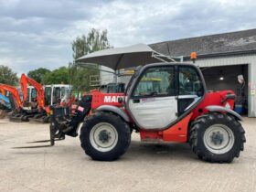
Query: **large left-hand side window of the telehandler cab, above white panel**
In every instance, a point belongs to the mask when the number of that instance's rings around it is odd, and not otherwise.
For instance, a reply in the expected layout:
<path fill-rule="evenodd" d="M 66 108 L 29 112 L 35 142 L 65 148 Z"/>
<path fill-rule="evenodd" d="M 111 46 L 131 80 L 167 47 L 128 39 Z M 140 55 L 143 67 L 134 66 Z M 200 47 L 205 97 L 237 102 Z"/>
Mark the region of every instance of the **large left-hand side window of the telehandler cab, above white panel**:
<path fill-rule="evenodd" d="M 174 96 L 174 75 L 174 67 L 146 69 L 133 91 L 133 97 Z"/>

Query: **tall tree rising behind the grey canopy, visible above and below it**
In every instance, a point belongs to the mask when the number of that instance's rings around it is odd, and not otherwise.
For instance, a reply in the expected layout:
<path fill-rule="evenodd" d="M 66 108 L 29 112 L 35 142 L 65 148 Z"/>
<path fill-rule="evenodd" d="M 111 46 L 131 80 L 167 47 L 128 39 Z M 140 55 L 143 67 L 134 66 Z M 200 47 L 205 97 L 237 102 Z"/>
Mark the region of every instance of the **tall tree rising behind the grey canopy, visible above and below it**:
<path fill-rule="evenodd" d="M 80 57 L 87 55 L 91 52 L 98 51 L 105 48 L 110 48 L 110 43 L 107 37 L 107 30 L 99 31 L 92 28 L 87 36 L 83 35 L 77 37 L 72 42 L 73 59 L 79 59 Z M 98 66 L 91 67 L 92 69 L 75 68 L 69 65 L 69 73 L 71 76 L 71 84 L 77 91 L 89 91 L 90 76 L 99 75 Z M 93 69 L 94 68 L 94 69 Z"/>

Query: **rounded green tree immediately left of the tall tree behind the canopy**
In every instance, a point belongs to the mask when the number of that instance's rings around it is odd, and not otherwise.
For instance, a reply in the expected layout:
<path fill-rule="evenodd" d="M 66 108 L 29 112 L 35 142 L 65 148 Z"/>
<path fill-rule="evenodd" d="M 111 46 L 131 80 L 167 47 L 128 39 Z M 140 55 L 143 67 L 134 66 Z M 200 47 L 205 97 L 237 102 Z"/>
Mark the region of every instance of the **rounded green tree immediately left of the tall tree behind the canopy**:
<path fill-rule="evenodd" d="M 44 77 L 45 84 L 69 84 L 69 69 L 60 67 L 48 72 Z"/>

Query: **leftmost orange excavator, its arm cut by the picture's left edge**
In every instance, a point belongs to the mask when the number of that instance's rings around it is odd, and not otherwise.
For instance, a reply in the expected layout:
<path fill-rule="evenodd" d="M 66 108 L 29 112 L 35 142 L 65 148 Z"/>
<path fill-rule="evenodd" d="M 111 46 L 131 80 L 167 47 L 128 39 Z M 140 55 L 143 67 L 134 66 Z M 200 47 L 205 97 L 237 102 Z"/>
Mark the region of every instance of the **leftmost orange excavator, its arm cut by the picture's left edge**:
<path fill-rule="evenodd" d="M 28 122 L 28 118 L 33 117 L 37 110 L 26 110 L 23 108 L 23 101 L 20 99 L 19 92 L 11 85 L 0 84 L 0 90 L 10 93 L 9 99 L 12 112 L 9 113 L 9 119 L 12 122 Z"/>

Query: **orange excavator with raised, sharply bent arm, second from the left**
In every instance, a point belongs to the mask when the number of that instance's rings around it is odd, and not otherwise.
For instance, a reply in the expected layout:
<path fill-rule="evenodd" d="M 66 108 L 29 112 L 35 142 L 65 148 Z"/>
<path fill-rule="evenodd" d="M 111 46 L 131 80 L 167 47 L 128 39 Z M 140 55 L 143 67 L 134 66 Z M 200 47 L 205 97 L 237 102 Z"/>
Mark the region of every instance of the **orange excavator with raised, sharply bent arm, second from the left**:
<path fill-rule="evenodd" d="M 23 92 L 23 100 L 27 101 L 27 85 L 33 86 L 37 91 L 37 114 L 30 118 L 30 120 L 35 120 L 40 123 L 48 123 L 49 121 L 49 106 L 45 106 L 45 91 L 43 85 L 38 83 L 36 80 L 33 80 L 27 77 L 24 73 L 20 78 L 20 88 Z"/>

